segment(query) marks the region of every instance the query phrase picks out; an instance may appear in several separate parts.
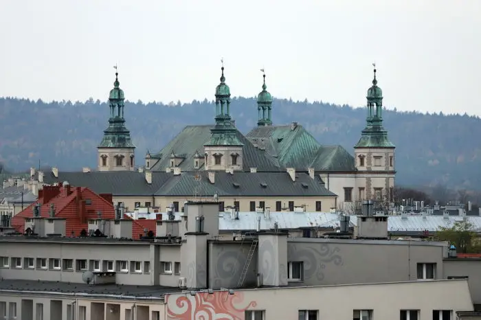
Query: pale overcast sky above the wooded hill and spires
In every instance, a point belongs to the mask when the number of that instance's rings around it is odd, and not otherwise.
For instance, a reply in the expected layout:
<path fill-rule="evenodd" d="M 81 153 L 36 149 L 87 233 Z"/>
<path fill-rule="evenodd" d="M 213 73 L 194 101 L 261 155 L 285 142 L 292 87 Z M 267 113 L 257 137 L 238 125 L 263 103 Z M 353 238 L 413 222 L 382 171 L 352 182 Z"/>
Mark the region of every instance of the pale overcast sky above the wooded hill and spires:
<path fill-rule="evenodd" d="M 480 0 L 1 0 L 0 96 L 232 95 L 361 106 L 376 62 L 388 108 L 481 115 Z"/>

